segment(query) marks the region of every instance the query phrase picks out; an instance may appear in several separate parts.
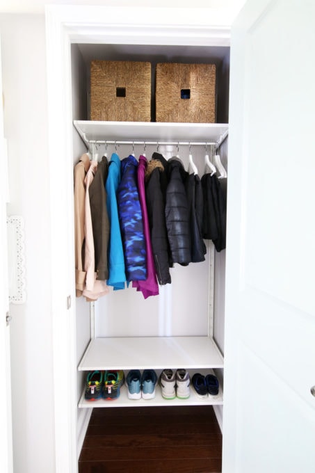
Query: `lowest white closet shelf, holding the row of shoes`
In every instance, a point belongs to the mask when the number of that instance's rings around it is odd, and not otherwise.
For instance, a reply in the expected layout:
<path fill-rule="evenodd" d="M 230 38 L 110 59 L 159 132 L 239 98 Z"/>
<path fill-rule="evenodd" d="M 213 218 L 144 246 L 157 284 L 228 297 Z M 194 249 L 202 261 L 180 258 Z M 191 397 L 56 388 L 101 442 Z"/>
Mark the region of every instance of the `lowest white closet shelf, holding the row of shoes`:
<path fill-rule="evenodd" d="M 201 373 L 204 376 L 206 374 L 214 374 L 213 370 L 193 370 L 189 371 L 191 378 L 195 372 Z M 126 373 L 125 373 L 126 374 Z M 191 383 L 191 395 L 188 399 L 164 399 L 161 394 L 161 387 L 156 383 L 155 388 L 155 397 L 154 399 L 128 399 L 127 395 L 127 386 L 123 385 L 120 388 L 120 396 L 118 399 L 111 399 L 110 401 L 106 399 L 98 399 L 97 401 L 87 401 L 84 399 L 84 391 L 82 393 L 81 399 L 79 401 L 79 408 L 113 408 L 113 407 L 148 407 L 148 406 L 205 406 L 205 405 L 222 405 L 223 404 L 223 390 L 222 387 L 219 387 L 219 393 L 217 396 L 207 396 L 205 399 L 200 399 L 195 393 L 193 385 Z"/>

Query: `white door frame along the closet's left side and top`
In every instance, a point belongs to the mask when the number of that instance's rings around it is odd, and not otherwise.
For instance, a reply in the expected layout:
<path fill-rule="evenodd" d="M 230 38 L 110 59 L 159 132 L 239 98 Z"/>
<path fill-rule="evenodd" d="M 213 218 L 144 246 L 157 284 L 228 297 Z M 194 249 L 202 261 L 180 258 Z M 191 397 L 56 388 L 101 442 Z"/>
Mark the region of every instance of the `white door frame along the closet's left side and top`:
<path fill-rule="evenodd" d="M 229 46 L 233 14 L 213 8 L 46 7 L 56 473 L 77 472 L 80 453 L 76 440 L 71 44 Z"/>

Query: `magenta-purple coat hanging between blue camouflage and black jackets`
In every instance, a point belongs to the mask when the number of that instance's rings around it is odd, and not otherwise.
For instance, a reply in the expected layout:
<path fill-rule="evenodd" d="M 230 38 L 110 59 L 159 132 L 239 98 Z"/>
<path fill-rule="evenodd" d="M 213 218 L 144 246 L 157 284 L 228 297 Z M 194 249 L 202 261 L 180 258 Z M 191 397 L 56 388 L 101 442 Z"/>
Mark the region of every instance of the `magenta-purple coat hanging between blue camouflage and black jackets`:
<path fill-rule="evenodd" d="M 152 253 L 151 236 L 149 228 L 149 220 L 147 217 L 147 203 L 145 201 L 145 168 L 147 167 L 147 159 L 144 156 L 139 157 L 138 162 L 138 193 L 140 200 L 140 207 L 143 217 L 143 233 L 145 236 L 145 248 L 147 252 L 147 279 L 144 281 L 134 281 L 133 287 L 137 291 L 142 291 L 143 297 L 146 299 L 149 296 L 157 296 L 159 294 L 159 285 L 156 280 L 156 270 L 154 266 L 154 259 Z"/>

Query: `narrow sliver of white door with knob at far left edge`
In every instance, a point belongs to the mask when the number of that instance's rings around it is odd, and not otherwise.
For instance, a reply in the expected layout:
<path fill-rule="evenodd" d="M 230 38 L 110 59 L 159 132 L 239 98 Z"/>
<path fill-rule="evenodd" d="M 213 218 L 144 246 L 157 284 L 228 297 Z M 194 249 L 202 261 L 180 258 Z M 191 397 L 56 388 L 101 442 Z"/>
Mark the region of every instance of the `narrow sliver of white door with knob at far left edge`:
<path fill-rule="evenodd" d="M 3 137 L 3 98 L 1 72 L 1 45 L 0 45 L 0 419 L 1 441 L 0 458 L 1 472 L 13 472 L 12 454 L 12 421 L 11 421 L 11 389 L 10 389 L 10 326 L 9 297 L 8 297 L 8 251 L 6 227 L 6 202 L 8 200 L 8 175 L 6 163 L 6 143 Z"/>

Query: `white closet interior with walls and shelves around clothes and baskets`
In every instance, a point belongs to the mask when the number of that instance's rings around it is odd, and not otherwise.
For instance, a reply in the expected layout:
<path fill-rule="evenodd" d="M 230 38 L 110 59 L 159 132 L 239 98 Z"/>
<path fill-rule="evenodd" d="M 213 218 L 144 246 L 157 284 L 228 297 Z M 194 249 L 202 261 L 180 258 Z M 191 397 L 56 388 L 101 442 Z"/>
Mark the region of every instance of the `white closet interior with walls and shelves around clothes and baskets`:
<path fill-rule="evenodd" d="M 74 165 L 83 152 L 113 152 L 120 159 L 145 154 L 150 160 L 158 151 L 166 159 L 178 156 L 188 170 L 189 162 L 201 178 L 216 167 L 226 189 L 227 178 L 214 155 L 227 170 L 229 47 L 189 45 L 72 45 L 72 111 Z M 92 122 L 89 120 L 90 61 L 150 61 L 152 64 L 151 122 Z M 154 121 L 154 67 L 159 62 L 215 63 L 216 123 L 159 123 Z M 210 165 L 209 165 L 210 162 Z M 208 169 L 207 169 L 208 166 Z M 222 179 L 221 179 L 222 178 Z M 159 286 L 159 295 L 144 299 L 131 287 L 110 291 L 95 303 L 76 298 L 76 355 L 78 364 L 78 419 L 82 408 L 114 406 L 223 405 L 225 250 L 217 252 L 205 241 L 205 261 L 170 269 L 172 282 Z M 84 399 L 86 374 L 90 370 L 184 368 L 215 372 L 220 381 L 216 397 L 198 398 L 193 389 L 188 399 L 165 400 L 159 389 L 154 399 L 129 400 L 122 388 L 114 401 Z M 213 371 L 214 370 L 214 371 Z"/>

